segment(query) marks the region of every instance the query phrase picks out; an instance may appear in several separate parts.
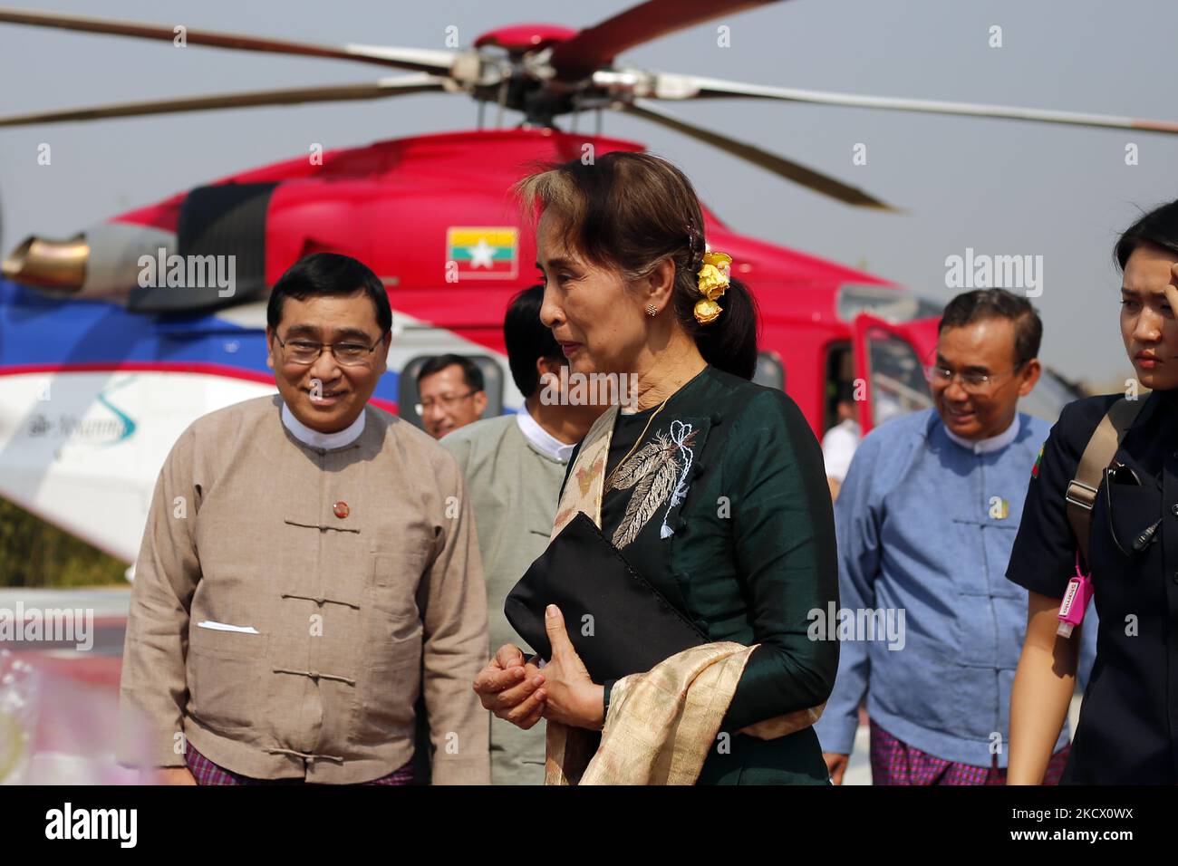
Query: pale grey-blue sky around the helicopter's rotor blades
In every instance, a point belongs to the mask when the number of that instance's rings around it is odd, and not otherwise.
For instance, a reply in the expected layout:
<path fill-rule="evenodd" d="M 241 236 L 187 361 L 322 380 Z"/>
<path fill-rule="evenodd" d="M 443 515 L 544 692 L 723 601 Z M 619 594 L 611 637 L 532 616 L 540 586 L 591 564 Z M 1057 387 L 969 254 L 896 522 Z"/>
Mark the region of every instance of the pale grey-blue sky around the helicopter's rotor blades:
<path fill-rule="evenodd" d="M 498 26 L 587 26 L 629 2 L 52 0 L 27 8 L 184 24 L 329 44 L 442 48 Z M 732 47 L 716 46 L 715 26 Z M 1004 46 L 988 46 L 992 25 Z M 768 85 L 999 103 L 1178 120 L 1178 4 L 1163 0 L 792 0 L 636 48 L 623 64 Z M 224 52 L 0 26 L 0 112 L 265 87 L 369 81 L 364 64 Z M 392 74 L 397 74 L 393 72 Z M 947 300 L 945 259 L 1044 257 L 1035 299 L 1043 357 L 1077 378 L 1131 375 L 1117 329 L 1110 249 L 1138 212 L 1178 197 L 1178 135 L 1010 120 L 739 100 L 667 105 L 694 123 L 792 157 L 898 205 L 856 212 L 641 120 L 607 114 L 604 132 L 679 163 L 734 227 Z M 515 115 L 509 115 L 515 117 Z M 130 207 L 238 170 L 326 147 L 468 128 L 465 97 L 167 115 L 0 131 L 5 251 L 28 233 L 68 236 Z M 582 127 L 584 128 L 584 127 Z M 53 147 L 37 165 L 37 145 Z M 1139 165 L 1126 166 L 1127 141 Z M 868 164 L 852 165 L 867 145 Z"/>

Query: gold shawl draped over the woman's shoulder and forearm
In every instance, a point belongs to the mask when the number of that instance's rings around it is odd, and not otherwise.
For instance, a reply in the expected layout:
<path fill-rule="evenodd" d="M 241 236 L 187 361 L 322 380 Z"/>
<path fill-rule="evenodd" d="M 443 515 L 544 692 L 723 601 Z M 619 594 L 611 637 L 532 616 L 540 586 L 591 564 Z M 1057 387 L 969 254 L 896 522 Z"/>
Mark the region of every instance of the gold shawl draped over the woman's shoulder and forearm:
<path fill-rule="evenodd" d="M 556 509 L 552 536 L 584 511 L 601 527 L 605 462 L 618 408 L 605 410 L 589 429 Z M 593 733 L 548 722 L 545 785 L 694 785 L 716 741 L 756 646 L 730 641 L 684 649 L 642 674 L 623 676 L 610 690 L 601 745 Z M 762 740 L 801 731 L 818 721 L 826 703 L 767 719 L 740 733 Z"/>

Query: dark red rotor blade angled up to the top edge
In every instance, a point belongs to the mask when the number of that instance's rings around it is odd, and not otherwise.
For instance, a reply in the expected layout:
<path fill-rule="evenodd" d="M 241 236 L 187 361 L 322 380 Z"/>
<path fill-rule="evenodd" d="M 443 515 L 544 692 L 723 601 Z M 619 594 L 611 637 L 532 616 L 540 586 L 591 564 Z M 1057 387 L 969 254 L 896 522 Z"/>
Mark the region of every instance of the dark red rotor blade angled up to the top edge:
<path fill-rule="evenodd" d="M 593 74 L 636 45 L 780 0 L 647 0 L 552 47 L 549 62 L 561 79 Z"/>

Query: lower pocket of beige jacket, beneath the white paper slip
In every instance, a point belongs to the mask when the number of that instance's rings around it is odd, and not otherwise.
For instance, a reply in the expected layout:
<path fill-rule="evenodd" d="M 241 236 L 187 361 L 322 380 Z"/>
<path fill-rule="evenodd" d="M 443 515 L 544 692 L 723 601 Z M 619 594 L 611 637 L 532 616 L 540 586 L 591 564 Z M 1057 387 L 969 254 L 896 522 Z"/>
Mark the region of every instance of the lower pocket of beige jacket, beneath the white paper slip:
<path fill-rule="evenodd" d="M 192 716 L 212 731 L 250 727 L 258 700 L 266 635 L 193 628 L 187 685 Z"/>

